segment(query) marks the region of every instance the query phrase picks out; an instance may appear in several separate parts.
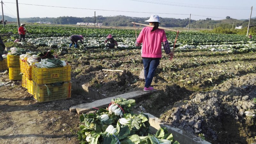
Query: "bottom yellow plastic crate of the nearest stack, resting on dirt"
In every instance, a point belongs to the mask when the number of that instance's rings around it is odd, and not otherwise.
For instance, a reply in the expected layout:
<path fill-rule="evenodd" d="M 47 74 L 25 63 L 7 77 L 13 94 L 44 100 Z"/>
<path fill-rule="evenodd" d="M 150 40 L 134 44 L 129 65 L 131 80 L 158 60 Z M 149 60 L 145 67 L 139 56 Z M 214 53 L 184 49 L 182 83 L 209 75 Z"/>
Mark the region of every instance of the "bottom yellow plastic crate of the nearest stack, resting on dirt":
<path fill-rule="evenodd" d="M 71 82 L 64 82 L 60 86 L 53 84 L 38 85 L 33 82 L 34 98 L 37 102 L 47 102 L 71 98 Z M 50 93 L 47 92 L 47 89 Z"/>

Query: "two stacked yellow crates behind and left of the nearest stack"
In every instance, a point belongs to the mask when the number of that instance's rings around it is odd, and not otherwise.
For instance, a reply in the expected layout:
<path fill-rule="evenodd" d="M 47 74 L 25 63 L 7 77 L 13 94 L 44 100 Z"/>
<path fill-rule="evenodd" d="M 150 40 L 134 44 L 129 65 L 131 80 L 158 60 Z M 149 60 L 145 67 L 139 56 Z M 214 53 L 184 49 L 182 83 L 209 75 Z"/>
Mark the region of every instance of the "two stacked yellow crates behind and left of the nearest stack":
<path fill-rule="evenodd" d="M 22 75 L 20 74 L 20 56 L 7 55 L 7 65 L 9 67 L 9 79 L 10 80 L 21 80 Z"/>

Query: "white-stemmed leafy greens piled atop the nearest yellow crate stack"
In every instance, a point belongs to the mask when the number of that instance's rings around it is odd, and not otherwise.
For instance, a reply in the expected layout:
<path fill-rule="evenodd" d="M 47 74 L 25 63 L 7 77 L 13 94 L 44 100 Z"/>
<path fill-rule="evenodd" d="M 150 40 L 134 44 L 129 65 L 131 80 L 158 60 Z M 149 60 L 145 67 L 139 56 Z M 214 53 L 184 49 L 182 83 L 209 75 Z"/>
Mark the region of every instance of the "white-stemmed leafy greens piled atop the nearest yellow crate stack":
<path fill-rule="evenodd" d="M 59 59 L 44 59 L 41 62 L 35 63 L 37 68 L 59 68 L 65 67 L 67 63 Z"/>

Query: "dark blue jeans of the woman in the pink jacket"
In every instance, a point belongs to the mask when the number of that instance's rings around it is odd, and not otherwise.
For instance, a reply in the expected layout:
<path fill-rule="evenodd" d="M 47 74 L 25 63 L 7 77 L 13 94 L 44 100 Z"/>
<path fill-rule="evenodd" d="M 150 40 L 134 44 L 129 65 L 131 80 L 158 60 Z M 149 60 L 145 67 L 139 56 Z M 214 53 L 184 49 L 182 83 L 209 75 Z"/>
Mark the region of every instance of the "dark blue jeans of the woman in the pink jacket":
<path fill-rule="evenodd" d="M 157 66 L 160 63 L 159 59 L 142 59 L 144 65 L 145 87 L 149 87 L 152 83 Z"/>

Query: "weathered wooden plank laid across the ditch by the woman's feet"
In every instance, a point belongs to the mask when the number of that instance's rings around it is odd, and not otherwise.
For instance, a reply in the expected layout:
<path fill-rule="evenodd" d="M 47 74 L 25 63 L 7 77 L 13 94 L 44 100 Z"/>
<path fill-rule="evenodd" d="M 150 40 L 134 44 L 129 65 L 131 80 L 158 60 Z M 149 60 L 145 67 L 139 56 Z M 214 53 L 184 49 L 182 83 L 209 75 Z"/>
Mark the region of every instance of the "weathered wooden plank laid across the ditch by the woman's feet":
<path fill-rule="evenodd" d="M 91 103 L 83 103 L 77 106 L 73 106 L 69 108 L 69 111 L 76 111 L 78 114 L 82 114 L 88 111 L 91 111 L 93 108 L 106 108 L 109 103 L 111 102 L 112 99 L 116 98 L 124 98 L 124 99 L 134 99 L 134 98 L 139 98 L 141 96 L 147 95 L 149 93 L 156 92 L 156 90 L 149 91 L 149 92 L 144 92 L 143 90 L 139 91 L 134 91 L 134 92 L 128 92 L 124 94 L 120 94 L 114 97 L 109 97 L 101 100 L 95 100 Z"/>

